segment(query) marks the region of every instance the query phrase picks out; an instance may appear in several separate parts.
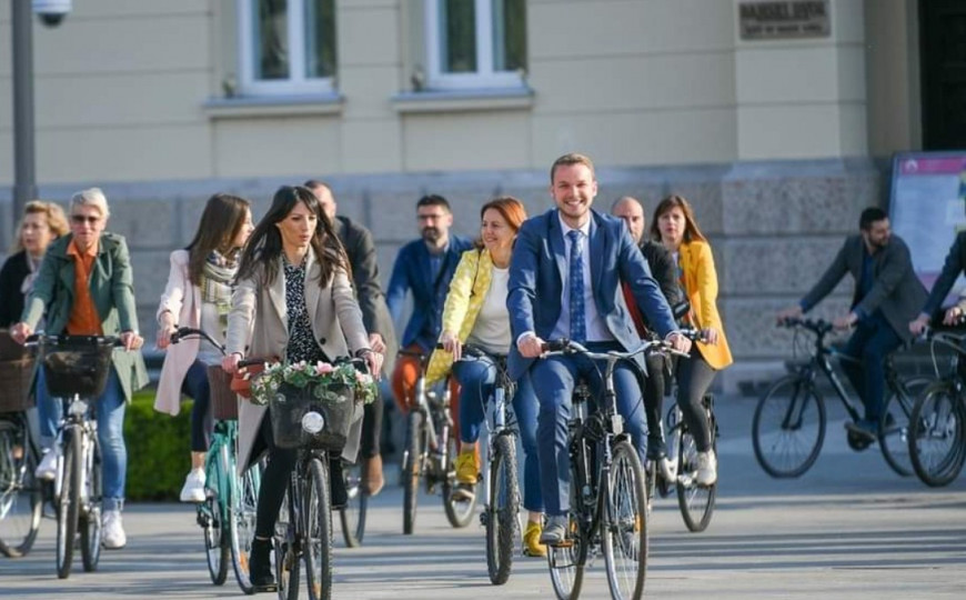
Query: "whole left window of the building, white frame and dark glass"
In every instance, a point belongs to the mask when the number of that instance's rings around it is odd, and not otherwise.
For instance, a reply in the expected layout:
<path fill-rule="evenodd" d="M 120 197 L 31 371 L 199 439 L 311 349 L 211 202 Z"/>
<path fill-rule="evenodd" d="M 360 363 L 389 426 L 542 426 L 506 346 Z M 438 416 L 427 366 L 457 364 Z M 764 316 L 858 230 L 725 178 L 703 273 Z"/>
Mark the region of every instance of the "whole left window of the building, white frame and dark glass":
<path fill-rule="evenodd" d="M 242 93 L 331 93 L 335 0 L 239 0 Z"/>

